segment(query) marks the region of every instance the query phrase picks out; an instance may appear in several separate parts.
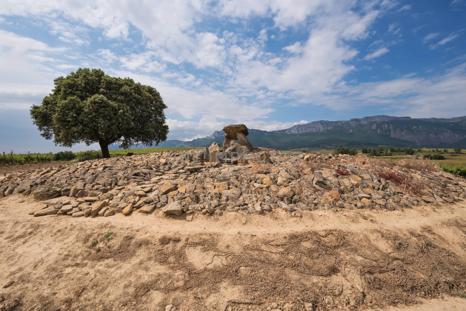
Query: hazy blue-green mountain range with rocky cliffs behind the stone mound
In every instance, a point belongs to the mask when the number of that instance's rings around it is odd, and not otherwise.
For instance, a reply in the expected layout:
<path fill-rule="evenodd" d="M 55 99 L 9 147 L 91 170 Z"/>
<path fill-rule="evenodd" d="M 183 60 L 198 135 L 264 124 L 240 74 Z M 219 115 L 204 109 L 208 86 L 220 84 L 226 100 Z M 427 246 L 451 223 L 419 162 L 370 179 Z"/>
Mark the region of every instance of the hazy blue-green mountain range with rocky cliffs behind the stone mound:
<path fill-rule="evenodd" d="M 466 148 L 466 116 L 451 119 L 414 119 L 375 115 L 349 121 L 315 121 L 276 131 L 250 128 L 247 138 L 254 146 L 278 150 L 380 145 Z M 224 139 L 224 132 L 219 130 L 212 135 L 191 141 L 167 140 L 158 144 L 158 147 L 208 147 L 212 142 L 221 145 Z M 144 146 L 131 148 L 144 148 Z M 109 149 L 119 148 L 115 144 Z"/>

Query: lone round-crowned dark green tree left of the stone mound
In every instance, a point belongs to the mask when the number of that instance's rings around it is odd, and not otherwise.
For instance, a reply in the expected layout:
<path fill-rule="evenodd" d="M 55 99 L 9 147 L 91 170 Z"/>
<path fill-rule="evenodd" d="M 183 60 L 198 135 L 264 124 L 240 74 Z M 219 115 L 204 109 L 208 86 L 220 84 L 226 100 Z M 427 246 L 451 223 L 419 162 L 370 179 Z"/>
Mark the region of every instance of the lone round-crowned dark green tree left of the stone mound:
<path fill-rule="evenodd" d="M 41 135 L 54 138 L 55 145 L 98 142 L 102 156 L 109 158 L 109 145 L 115 142 L 127 149 L 167 139 L 167 106 L 151 86 L 89 68 L 79 68 L 54 83 L 53 93 L 40 106 L 32 106 L 31 117 Z"/>

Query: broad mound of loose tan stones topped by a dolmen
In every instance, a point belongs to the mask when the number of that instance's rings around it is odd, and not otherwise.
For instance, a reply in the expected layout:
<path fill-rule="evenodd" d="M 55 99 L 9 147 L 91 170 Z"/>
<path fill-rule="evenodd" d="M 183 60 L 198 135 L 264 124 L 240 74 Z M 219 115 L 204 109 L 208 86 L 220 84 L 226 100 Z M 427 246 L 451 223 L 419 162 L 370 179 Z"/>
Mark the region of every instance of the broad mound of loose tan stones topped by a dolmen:
<path fill-rule="evenodd" d="M 158 152 L 0 177 L 0 199 L 32 196 L 43 203 L 30 211 L 34 216 L 96 217 L 162 210 L 192 220 L 198 213 L 248 216 L 286 211 L 299 217 L 321 209 L 401 210 L 418 204 L 441 206 L 466 196 L 464 179 L 423 160 L 294 153 L 283 162 L 274 156 L 276 150 L 252 147 L 246 126 L 229 125 L 224 131 L 223 148 L 213 143 L 209 148 L 184 150 L 182 161 L 170 161 L 175 152 L 168 156 Z M 232 159 L 232 152 L 243 150 L 252 152 L 253 159 Z"/>

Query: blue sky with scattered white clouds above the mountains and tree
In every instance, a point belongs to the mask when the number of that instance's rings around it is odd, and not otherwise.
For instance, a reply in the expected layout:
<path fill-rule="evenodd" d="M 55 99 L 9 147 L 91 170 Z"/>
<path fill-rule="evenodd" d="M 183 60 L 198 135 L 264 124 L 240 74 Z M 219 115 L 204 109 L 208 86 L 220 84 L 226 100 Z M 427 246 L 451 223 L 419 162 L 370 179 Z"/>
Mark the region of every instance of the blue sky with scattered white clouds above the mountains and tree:
<path fill-rule="evenodd" d="M 466 0 L 3 0 L 0 152 L 64 149 L 29 108 L 79 67 L 157 88 L 169 139 L 466 115 L 465 20 Z"/>

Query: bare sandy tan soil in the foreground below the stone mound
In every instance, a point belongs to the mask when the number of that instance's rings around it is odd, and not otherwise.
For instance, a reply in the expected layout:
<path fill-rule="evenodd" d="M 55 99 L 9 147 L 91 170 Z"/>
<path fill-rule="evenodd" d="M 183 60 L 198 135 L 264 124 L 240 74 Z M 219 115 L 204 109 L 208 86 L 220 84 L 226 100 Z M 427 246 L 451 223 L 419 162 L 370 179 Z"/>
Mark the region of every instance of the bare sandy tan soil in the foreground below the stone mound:
<path fill-rule="evenodd" d="M 38 204 L 0 199 L 0 306 L 12 310 L 466 310 L 453 294 L 465 291 L 464 202 L 245 224 L 28 215 Z"/>

